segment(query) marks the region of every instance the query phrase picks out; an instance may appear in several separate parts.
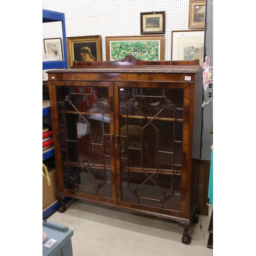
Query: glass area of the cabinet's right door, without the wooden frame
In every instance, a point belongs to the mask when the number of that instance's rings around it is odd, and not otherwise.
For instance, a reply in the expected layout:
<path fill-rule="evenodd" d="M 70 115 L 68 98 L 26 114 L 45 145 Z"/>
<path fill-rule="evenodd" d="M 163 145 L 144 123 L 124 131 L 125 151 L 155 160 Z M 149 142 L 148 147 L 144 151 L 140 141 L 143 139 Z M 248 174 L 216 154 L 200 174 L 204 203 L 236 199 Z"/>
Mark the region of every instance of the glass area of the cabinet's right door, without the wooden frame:
<path fill-rule="evenodd" d="M 119 88 L 122 200 L 180 209 L 183 89 Z"/>

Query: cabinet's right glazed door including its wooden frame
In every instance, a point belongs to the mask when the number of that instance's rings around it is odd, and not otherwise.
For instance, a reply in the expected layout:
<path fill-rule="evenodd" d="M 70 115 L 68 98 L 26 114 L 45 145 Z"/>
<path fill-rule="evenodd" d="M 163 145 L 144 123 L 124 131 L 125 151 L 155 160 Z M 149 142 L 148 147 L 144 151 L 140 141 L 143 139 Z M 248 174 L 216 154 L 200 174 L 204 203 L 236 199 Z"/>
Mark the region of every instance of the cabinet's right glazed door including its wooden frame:
<path fill-rule="evenodd" d="M 118 204 L 180 217 L 186 200 L 189 84 L 115 82 Z"/>

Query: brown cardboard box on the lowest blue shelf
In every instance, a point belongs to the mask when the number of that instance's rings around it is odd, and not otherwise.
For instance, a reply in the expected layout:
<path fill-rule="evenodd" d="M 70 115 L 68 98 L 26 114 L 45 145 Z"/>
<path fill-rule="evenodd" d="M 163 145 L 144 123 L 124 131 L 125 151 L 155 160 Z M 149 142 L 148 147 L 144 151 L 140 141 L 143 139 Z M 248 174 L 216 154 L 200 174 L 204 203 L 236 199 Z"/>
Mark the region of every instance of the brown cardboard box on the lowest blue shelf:
<path fill-rule="evenodd" d="M 46 176 L 42 177 L 42 209 L 45 209 L 50 204 L 54 203 L 57 193 L 57 173 L 53 168 L 47 168 L 51 185 L 49 186 L 46 181 Z"/>

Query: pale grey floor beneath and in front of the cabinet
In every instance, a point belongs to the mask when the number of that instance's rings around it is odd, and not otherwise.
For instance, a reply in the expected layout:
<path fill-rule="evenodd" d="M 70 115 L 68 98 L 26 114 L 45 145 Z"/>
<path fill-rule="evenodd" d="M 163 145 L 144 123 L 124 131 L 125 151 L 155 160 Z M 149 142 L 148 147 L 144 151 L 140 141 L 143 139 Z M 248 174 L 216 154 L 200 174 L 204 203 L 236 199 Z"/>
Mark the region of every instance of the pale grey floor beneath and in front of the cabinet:
<path fill-rule="evenodd" d="M 189 230 L 191 243 L 182 244 L 183 228 L 175 221 L 125 209 L 73 199 L 63 213 L 47 219 L 74 231 L 73 256 L 212 256 L 207 248 L 209 215 Z"/>

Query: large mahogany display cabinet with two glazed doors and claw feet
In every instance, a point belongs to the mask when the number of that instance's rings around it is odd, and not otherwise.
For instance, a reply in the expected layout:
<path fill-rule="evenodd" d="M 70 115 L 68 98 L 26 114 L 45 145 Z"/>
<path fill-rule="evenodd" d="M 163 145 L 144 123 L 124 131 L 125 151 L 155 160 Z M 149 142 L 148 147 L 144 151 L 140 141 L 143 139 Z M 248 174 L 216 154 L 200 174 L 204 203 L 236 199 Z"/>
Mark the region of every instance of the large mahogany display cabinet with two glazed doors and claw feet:
<path fill-rule="evenodd" d="M 76 62 L 47 71 L 60 212 L 84 199 L 197 221 L 203 69 L 193 61 Z"/>

